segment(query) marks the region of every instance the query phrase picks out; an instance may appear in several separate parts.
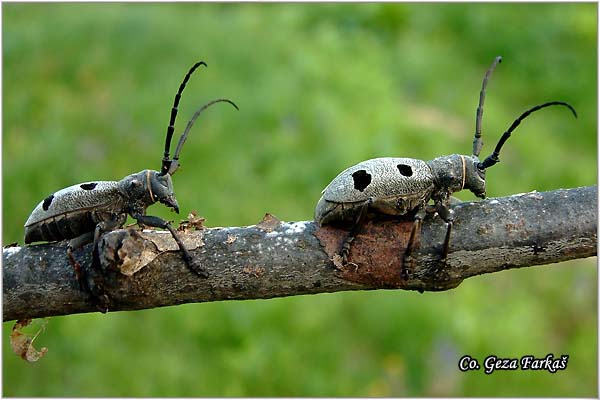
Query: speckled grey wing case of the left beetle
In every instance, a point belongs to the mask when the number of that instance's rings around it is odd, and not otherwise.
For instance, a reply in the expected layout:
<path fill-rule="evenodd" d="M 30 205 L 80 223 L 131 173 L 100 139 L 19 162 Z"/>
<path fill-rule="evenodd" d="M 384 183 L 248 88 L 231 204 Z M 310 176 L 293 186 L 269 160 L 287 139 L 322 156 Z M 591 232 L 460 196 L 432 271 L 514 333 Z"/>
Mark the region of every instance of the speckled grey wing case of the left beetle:
<path fill-rule="evenodd" d="M 95 181 L 79 183 L 51 194 L 42 200 L 33 210 L 25 226 L 33 225 L 47 218 L 67 212 L 103 208 L 111 203 L 120 203 L 117 182 Z"/>

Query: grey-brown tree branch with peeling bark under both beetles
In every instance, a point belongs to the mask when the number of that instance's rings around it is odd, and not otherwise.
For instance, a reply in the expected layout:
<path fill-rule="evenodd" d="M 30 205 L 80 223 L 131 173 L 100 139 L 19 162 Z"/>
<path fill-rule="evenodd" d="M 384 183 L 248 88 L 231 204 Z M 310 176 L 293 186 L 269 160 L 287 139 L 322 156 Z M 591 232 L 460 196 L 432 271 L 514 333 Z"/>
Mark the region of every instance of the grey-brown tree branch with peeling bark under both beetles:
<path fill-rule="evenodd" d="M 446 224 L 428 217 L 408 279 L 400 274 L 401 254 L 412 221 L 368 222 L 350 264 L 341 266 L 332 258 L 346 231 L 268 214 L 248 227 L 185 224 L 181 236 L 208 279 L 187 269 L 168 232 L 133 229 L 104 235 L 101 276 L 110 311 L 344 290 L 448 290 L 479 274 L 596 255 L 597 201 L 592 186 L 460 203 L 447 262 L 439 262 Z M 90 254 L 91 245 L 75 253 L 83 268 L 90 268 Z M 3 289 L 4 321 L 95 311 L 65 242 L 4 248 Z"/>

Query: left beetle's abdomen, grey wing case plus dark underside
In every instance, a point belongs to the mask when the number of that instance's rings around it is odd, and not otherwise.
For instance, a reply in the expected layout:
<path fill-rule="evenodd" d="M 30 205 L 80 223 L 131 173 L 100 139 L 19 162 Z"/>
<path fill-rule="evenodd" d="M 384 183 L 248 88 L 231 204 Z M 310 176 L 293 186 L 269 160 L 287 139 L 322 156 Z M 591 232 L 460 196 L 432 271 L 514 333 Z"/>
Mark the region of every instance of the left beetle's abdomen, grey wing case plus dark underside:
<path fill-rule="evenodd" d="M 121 214 L 125 200 L 117 182 L 86 182 L 46 197 L 25 222 L 25 243 L 72 239 L 94 230 L 108 212 Z"/>

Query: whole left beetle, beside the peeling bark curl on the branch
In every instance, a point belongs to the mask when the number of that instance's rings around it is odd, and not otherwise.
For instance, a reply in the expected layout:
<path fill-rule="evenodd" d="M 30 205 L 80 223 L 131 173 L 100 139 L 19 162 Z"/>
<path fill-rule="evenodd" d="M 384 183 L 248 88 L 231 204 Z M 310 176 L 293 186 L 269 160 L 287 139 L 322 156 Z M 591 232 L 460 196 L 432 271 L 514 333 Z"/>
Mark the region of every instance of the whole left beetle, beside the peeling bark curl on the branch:
<path fill-rule="evenodd" d="M 156 202 L 161 202 L 179 213 L 171 176 L 179 167 L 179 153 L 200 113 L 219 102 L 229 103 L 238 109 L 227 99 L 213 100 L 202 106 L 188 122 L 175 154 L 170 158 L 179 100 L 190 76 L 201 65 L 206 67 L 206 63 L 202 61 L 192 66 L 175 95 L 160 172 L 143 170 L 118 182 L 93 181 L 59 190 L 42 200 L 25 222 L 25 243 L 69 239 L 67 254 L 82 287 L 89 289 L 88 282 L 82 280 L 82 272 L 73 257 L 73 250 L 93 241 L 93 249 L 96 252 L 101 234 L 122 227 L 127 215 L 133 217 L 140 225 L 168 229 L 189 268 L 202 277 L 208 277 L 206 269 L 192 258 L 171 224 L 162 218 L 146 215 L 146 208 Z"/>

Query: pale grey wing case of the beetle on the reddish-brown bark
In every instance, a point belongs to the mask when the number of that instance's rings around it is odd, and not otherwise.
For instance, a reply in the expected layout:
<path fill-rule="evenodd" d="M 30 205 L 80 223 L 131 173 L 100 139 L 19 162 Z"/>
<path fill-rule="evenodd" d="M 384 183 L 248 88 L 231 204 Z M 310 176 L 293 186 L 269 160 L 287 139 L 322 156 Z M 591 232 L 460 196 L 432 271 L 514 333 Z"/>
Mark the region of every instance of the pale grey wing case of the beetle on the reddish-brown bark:
<path fill-rule="evenodd" d="M 355 173 L 362 175 L 361 184 L 356 185 L 353 178 Z M 370 182 L 365 185 L 369 179 Z M 364 201 L 369 197 L 376 199 L 423 193 L 430 191 L 432 186 L 433 174 L 425 161 L 414 158 L 374 158 L 342 171 L 323 190 L 323 198 L 347 203 Z"/>

